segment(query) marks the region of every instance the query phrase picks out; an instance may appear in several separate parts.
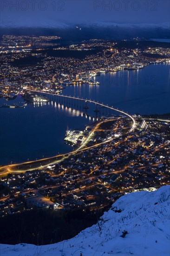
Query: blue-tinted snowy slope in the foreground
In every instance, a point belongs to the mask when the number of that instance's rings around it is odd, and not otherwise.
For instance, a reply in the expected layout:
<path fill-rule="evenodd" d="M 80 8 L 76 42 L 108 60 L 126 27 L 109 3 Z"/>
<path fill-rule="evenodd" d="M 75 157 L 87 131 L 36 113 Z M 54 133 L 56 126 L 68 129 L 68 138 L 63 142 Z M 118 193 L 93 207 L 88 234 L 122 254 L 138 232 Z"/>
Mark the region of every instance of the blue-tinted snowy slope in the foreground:
<path fill-rule="evenodd" d="M 169 253 L 170 186 L 122 196 L 96 225 L 72 239 L 44 246 L 0 245 L 0 256 L 169 256 Z"/>

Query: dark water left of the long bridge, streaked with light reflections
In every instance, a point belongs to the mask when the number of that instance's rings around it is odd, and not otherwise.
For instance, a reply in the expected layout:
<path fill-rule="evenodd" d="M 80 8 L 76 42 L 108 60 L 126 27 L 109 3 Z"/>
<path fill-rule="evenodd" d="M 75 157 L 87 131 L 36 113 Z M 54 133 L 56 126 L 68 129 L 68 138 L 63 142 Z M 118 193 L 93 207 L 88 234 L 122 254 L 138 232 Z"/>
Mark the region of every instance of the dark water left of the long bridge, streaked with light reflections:
<path fill-rule="evenodd" d="M 2 101 L 1 98 L 0 104 Z M 13 103 L 18 101 L 16 98 Z M 26 108 L 1 108 L 0 164 L 69 152 L 72 146 L 64 142 L 67 126 L 84 130 L 94 120 L 85 111 L 65 107 L 54 100 L 29 103 Z"/>

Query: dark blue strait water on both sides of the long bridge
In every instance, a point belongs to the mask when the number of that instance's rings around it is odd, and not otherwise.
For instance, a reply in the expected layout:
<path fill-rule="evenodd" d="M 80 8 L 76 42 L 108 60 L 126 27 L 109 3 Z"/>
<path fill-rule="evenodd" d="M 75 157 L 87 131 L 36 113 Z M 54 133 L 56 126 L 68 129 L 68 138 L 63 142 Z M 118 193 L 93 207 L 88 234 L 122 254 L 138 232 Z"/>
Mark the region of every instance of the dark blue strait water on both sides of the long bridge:
<path fill-rule="evenodd" d="M 170 65 L 156 64 L 138 71 L 96 76 L 100 85 L 72 85 L 63 94 L 103 102 L 134 114 L 170 112 Z M 0 99 L 0 105 L 19 103 Z M 72 150 L 65 144 L 69 128 L 84 128 L 90 122 L 84 110 L 65 108 L 54 101 L 28 104 L 25 108 L 0 108 L 0 165 L 50 157 Z M 87 110 L 87 115 L 92 110 Z M 92 121 L 92 119 L 91 119 Z"/>

